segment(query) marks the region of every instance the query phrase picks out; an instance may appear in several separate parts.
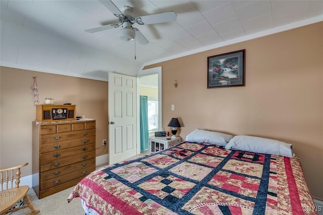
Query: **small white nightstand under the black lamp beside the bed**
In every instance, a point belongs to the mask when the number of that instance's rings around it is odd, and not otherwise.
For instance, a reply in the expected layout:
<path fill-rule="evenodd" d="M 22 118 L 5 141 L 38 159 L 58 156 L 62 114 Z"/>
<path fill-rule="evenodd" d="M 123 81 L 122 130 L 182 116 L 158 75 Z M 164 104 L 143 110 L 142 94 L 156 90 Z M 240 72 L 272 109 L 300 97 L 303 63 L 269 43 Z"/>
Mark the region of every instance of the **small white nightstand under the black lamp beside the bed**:
<path fill-rule="evenodd" d="M 168 140 L 170 139 L 170 140 Z M 158 152 L 164 149 L 167 149 L 169 147 L 172 147 L 174 145 L 177 145 L 181 142 L 180 137 L 149 137 L 149 153 L 151 152 Z"/>

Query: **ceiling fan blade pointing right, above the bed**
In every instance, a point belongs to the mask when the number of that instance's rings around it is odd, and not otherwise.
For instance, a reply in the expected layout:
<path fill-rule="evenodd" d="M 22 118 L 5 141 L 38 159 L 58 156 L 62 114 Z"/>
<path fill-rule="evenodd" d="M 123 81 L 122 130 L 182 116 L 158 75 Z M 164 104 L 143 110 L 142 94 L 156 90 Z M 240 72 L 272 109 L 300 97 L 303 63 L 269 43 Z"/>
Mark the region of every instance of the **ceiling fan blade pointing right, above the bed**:
<path fill-rule="evenodd" d="M 152 14 L 142 17 L 137 17 L 136 22 L 139 25 L 148 25 L 148 24 L 156 24 L 163 22 L 175 22 L 177 19 L 177 15 L 174 11 Z"/>

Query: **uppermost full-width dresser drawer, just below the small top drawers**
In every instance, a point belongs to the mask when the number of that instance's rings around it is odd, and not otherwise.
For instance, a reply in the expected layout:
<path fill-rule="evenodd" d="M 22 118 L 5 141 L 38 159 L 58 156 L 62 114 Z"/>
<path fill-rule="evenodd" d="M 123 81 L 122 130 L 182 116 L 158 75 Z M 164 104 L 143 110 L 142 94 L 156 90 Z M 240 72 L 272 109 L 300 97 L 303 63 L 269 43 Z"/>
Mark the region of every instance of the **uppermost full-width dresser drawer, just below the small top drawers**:
<path fill-rule="evenodd" d="M 82 130 L 82 131 L 72 131 L 65 133 L 56 134 L 44 134 L 40 136 L 40 144 L 51 143 L 51 142 L 61 142 L 81 137 L 95 136 L 95 129 Z"/>

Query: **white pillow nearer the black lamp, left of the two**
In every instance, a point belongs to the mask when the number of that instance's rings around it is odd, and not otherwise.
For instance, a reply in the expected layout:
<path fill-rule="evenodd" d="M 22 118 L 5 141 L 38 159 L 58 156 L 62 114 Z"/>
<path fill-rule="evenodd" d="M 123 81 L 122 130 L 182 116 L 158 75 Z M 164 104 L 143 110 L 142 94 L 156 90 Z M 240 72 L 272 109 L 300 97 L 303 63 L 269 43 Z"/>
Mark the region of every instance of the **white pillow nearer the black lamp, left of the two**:
<path fill-rule="evenodd" d="M 196 129 L 186 136 L 186 141 L 189 142 L 205 142 L 225 146 L 233 136 L 215 131 L 206 131 Z"/>

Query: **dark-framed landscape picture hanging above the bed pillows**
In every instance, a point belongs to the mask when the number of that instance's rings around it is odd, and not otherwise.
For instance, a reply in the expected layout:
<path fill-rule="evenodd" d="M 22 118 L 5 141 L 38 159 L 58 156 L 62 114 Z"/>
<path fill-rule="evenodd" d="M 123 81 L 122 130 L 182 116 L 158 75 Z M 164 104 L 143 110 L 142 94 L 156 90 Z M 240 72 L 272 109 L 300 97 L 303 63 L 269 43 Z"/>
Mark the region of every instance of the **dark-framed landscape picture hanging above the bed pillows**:
<path fill-rule="evenodd" d="M 245 86 L 245 50 L 207 58 L 207 88 Z"/>

